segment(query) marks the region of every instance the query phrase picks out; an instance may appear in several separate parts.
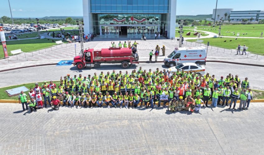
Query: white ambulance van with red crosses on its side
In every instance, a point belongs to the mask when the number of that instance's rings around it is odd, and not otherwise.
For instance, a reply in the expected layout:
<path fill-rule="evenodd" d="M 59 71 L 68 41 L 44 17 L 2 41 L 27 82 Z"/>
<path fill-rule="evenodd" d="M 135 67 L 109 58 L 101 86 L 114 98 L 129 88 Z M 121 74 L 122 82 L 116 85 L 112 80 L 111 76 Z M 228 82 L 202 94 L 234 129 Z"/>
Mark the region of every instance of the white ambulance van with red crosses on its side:
<path fill-rule="evenodd" d="M 205 65 L 206 47 L 176 47 L 174 51 L 164 59 L 164 64 L 169 67 L 187 62 Z"/>

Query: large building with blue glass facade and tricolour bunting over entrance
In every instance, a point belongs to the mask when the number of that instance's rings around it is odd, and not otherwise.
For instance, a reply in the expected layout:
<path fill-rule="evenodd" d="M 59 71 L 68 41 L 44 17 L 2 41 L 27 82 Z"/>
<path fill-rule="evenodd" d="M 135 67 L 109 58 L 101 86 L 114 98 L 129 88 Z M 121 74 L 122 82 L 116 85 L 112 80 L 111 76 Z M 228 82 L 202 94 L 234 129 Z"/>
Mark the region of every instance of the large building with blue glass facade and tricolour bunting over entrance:
<path fill-rule="evenodd" d="M 171 26 L 171 10 L 176 16 L 176 0 L 83 0 L 83 5 L 84 25 L 88 24 L 84 32 L 88 28 L 102 36 L 165 35 Z M 175 35 L 175 20 L 172 24 Z"/>

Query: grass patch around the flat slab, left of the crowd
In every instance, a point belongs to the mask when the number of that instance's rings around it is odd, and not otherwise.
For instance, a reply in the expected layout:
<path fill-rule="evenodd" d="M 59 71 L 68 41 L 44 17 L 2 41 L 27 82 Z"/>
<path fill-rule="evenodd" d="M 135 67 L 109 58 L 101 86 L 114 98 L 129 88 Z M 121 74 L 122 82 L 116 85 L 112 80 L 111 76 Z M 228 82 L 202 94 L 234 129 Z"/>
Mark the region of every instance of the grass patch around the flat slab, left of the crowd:
<path fill-rule="evenodd" d="M 49 82 L 47 81 L 47 83 L 49 83 Z M 56 81 L 56 82 L 53 81 L 53 83 L 55 83 L 56 86 L 59 86 L 59 84 L 60 84 L 60 82 L 58 82 L 58 81 Z M 42 86 L 42 84 L 43 84 L 43 82 L 39 82 L 39 86 L 40 87 Z M 5 91 L 8 90 L 8 89 L 12 89 L 12 88 L 20 87 L 20 86 L 25 86 L 25 87 L 27 87 L 30 90 L 30 88 L 34 88 L 35 87 L 35 83 L 21 84 L 21 85 L 17 85 L 17 86 L 9 86 L 9 87 L 0 88 L 0 99 L 4 99 L 4 100 L 18 100 L 18 95 L 9 97 Z M 28 96 L 28 92 L 29 91 L 25 92 L 27 94 L 27 96 Z"/>

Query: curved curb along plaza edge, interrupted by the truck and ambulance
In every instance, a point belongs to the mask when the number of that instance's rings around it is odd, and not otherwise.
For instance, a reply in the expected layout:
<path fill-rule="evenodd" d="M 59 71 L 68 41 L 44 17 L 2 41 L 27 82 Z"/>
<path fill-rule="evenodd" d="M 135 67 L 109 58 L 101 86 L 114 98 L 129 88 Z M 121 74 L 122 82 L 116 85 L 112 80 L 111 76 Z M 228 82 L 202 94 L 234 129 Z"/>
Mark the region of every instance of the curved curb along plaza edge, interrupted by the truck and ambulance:
<path fill-rule="evenodd" d="M 162 63 L 162 62 L 164 62 L 164 61 L 139 61 L 139 63 Z M 240 65 L 247 65 L 247 66 L 264 67 L 264 65 L 261 65 L 261 64 L 245 64 L 245 63 L 229 62 L 229 61 L 207 60 L 206 62 L 218 62 L 218 63 L 227 63 L 227 64 L 240 64 Z M 48 66 L 48 65 L 57 65 L 57 63 L 53 63 L 53 64 L 38 64 L 38 65 L 31 65 L 31 66 L 12 68 L 12 69 L 4 69 L 4 70 L 0 70 L 0 72 L 6 72 L 6 71 L 10 71 L 10 70 L 30 68 L 30 67 Z"/>

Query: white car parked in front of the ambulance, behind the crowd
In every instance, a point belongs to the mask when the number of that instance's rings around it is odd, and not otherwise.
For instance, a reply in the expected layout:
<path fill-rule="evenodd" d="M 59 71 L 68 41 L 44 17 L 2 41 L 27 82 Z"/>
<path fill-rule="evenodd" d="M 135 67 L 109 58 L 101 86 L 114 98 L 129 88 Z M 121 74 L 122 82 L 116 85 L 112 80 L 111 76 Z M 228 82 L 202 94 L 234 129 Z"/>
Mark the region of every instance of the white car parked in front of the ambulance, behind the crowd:
<path fill-rule="evenodd" d="M 177 69 L 179 69 L 180 72 L 182 71 L 182 69 L 184 69 L 184 72 L 192 70 L 192 71 L 196 71 L 196 74 L 201 74 L 201 75 L 205 74 L 205 67 L 195 63 L 178 64 L 177 66 L 169 68 L 168 71 L 171 72 L 171 74 L 173 74 L 174 72 L 177 72 Z"/>

